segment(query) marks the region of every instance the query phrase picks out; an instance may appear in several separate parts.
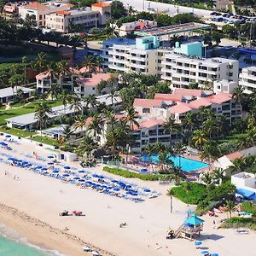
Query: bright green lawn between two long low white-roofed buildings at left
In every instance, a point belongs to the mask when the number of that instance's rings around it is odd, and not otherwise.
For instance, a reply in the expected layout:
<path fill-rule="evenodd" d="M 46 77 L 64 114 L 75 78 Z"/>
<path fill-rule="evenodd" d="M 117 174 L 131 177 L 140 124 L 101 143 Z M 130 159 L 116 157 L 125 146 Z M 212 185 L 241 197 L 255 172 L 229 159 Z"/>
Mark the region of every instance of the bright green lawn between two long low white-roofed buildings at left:
<path fill-rule="evenodd" d="M 0 125 L 4 125 L 6 123 L 5 119 L 9 119 L 21 114 L 35 112 L 35 108 L 38 106 L 39 102 L 40 100 L 31 102 L 28 105 L 26 105 L 26 107 L 23 107 L 23 108 L 16 108 L 16 109 L 9 109 L 9 110 L 0 109 Z M 60 101 L 46 101 L 46 102 L 49 104 L 51 108 L 61 105 Z"/>

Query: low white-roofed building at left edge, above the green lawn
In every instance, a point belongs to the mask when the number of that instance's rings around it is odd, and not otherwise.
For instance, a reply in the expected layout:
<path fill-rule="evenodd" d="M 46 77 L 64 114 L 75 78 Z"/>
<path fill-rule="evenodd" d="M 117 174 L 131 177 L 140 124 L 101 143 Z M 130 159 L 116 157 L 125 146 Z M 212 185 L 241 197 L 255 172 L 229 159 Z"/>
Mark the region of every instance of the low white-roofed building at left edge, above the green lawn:
<path fill-rule="evenodd" d="M 19 93 L 19 90 L 22 90 L 22 95 L 24 98 L 32 96 L 32 92 L 35 91 L 34 89 L 22 86 L 15 86 L 14 89 L 11 87 L 0 89 L 0 103 L 13 102 Z"/>

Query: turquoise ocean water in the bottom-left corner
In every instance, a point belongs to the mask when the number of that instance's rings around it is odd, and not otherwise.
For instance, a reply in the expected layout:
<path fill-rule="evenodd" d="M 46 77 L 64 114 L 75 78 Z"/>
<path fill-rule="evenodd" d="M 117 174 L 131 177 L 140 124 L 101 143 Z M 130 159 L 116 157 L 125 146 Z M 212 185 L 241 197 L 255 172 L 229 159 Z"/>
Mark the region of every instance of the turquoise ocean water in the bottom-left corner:
<path fill-rule="evenodd" d="M 6 228 L 0 224 L 0 256 L 56 256 L 61 253 L 45 250 L 27 243 L 26 238 L 22 238 L 14 230 Z"/>

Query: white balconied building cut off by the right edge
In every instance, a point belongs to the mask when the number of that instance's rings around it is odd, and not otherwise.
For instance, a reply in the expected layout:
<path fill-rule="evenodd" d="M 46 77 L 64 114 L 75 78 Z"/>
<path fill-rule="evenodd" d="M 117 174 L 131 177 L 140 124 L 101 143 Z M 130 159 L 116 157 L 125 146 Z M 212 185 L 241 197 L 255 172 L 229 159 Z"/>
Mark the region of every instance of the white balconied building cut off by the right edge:
<path fill-rule="evenodd" d="M 239 85 L 245 90 L 245 93 L 256 91 L 256 67 L 244 67 L 239 75 Z"/>

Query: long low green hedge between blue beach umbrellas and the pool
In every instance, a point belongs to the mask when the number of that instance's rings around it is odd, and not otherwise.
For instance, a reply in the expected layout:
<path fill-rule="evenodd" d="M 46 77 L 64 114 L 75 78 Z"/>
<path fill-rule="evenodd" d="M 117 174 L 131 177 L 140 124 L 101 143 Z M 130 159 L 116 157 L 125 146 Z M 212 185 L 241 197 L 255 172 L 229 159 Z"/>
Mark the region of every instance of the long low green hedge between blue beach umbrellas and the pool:
<path fill-rule="evenodd" d="M 154 180 L 159 180 L 166 177 L 165 175 L 160 175 L 160 174 L 142 174 L 142 173 L 130 172 L 124 169 L 112 168 L 108 166 L 104 166 L 103 170 L 105 172 L 110 172 L 122 177 L 127 177 L 127 178 L 134 177 L 134 178 L 139 178 L 146 181 L 154 181 Z"/>

